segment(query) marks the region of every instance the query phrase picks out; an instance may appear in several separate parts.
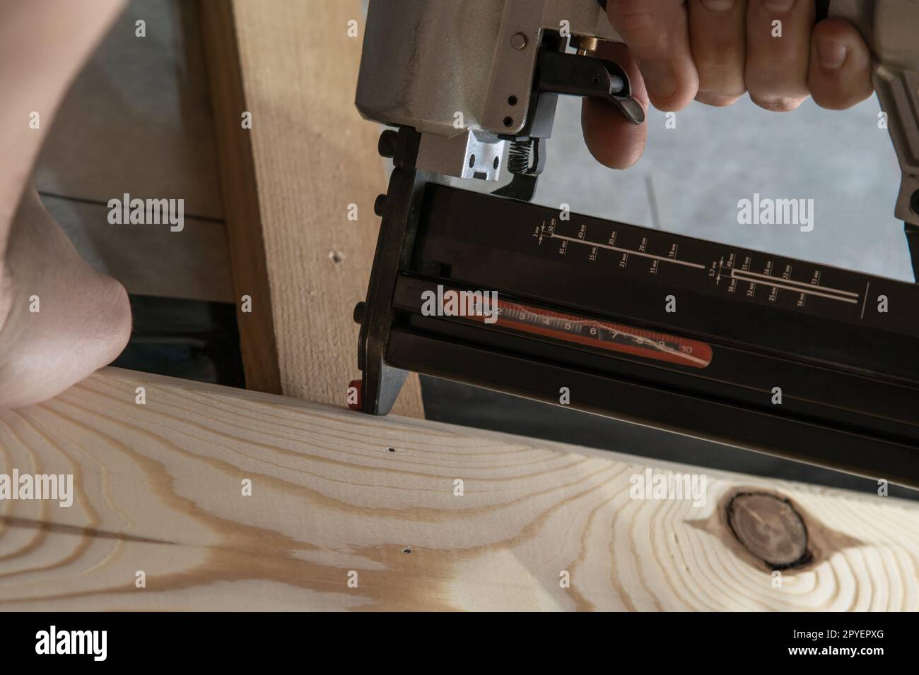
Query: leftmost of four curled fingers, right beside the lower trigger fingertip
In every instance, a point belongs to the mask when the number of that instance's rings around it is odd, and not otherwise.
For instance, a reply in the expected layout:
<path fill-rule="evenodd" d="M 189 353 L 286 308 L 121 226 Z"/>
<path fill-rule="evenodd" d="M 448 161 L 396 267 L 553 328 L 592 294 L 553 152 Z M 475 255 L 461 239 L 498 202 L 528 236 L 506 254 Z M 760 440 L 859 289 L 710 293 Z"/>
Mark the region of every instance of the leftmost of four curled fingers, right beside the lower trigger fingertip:
<path fill-rule="evenodd" d="M 683 0 L 614 0 L 607 8 L 610 22 L 641 64 L 654 107 L 686 107 L 696 96 L 698 73 Z"/>

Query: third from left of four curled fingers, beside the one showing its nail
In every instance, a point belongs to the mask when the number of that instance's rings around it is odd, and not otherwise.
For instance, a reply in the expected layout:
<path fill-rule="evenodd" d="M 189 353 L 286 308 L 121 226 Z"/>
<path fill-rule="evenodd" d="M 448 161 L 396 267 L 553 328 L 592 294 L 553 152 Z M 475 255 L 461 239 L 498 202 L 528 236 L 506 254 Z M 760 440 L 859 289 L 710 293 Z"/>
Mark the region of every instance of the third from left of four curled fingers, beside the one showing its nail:
<path fill-rule="evenodd" d="M 812 0 L 750 0 L 745 80 L 767 110 L 787 111 L 808 97 Z"/>

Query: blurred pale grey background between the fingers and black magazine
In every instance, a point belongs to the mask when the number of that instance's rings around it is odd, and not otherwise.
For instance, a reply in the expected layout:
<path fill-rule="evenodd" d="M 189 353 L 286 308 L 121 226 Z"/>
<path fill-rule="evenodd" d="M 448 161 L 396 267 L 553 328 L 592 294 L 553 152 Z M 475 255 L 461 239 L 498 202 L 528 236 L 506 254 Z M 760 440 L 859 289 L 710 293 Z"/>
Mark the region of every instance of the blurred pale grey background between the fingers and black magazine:
<path fill-rule="evenodd" d="M 772 113 L 744 96 L 731 107 L 693 103 L 648 116 L 648 145 L 626 171 L 599 166 L 584 146 L 579 101 L 560 98 L 539 203 L 644 227 L 879 276 L 913 281 L 902 221 L 893 217 L 900 167 L 872 96 L 844 111 L 810 99 Z M 814 228 L 741 225 L 737 202 L 812 198 Z"/>

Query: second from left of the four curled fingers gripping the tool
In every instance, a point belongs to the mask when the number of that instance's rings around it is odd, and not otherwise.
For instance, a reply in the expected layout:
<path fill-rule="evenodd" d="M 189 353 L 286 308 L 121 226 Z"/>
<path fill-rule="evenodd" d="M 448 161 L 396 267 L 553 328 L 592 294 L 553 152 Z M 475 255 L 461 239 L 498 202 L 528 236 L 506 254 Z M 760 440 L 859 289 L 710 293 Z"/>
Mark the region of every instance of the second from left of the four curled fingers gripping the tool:
<path fill-rule="evenodd" d="M 696 100 L 729 106 L 746 92 L 746 0 L 690 0 L 688 10 Z"/>

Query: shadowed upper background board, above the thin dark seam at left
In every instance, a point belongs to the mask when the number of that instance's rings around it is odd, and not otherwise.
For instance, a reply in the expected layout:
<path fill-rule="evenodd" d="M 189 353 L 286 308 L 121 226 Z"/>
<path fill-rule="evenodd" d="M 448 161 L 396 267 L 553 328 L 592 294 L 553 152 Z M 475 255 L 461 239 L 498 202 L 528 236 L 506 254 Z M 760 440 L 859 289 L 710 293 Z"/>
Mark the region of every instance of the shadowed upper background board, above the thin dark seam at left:
<path fill-rule="evenodd" d="M 36 165 L 41 192 L 182 198 L 186 216 L 223 217 L 199 28 L 195 3 L 125 7 L 62 101 Z"/>

